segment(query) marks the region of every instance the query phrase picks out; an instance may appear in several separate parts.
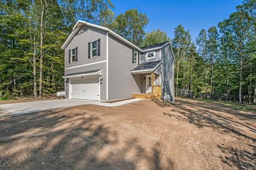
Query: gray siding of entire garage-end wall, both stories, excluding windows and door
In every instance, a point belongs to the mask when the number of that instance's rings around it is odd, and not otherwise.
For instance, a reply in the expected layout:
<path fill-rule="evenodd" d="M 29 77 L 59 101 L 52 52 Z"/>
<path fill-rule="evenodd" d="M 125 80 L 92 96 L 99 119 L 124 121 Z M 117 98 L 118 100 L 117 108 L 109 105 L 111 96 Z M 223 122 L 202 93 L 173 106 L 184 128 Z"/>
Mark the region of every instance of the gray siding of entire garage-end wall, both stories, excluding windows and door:
<path fill-rule="evenodd" d="M 106 62 L 86 65 L 67 69 L 73 66 L 90 64 L 94 62 L 107 60 L 107 32 L 98 28 L 87 27 L 83 25 L 76 36 L 70 41 L 65 49 L 65 75 L 70 73 L 86 72 L 101 69 L 100 100 L 106 100 Z M 88 43 L 100 39 L 100 56 L 88 58 Z M 77 62 L 69 63 L 69 49 L 77 47 Z M 67 81 L 67 79 L 65 79 Z M 68 83 L 65 83 L 65 94 L 68 98 Z"/>

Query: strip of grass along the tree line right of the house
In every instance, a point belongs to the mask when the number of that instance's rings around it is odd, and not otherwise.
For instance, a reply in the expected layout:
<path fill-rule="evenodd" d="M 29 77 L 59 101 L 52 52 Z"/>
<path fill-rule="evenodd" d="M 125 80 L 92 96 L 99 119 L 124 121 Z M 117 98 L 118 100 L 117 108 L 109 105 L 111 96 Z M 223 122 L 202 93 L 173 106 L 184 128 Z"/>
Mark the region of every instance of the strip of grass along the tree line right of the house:
<path fill-rule="evenodd" d="M 254 111 L 254 112 L 256 112 L 256 106 L 250 105 L 250 104 L 243 104 L 243 103 L 240 104 L 238 102 L 233 102 L 233 101 L 213 100 L 213 99 L 195 99 L 195 100 L 204 101 L 206 103 L 231 106 L 234 109 L 239 110 L 239 111 Z"/>

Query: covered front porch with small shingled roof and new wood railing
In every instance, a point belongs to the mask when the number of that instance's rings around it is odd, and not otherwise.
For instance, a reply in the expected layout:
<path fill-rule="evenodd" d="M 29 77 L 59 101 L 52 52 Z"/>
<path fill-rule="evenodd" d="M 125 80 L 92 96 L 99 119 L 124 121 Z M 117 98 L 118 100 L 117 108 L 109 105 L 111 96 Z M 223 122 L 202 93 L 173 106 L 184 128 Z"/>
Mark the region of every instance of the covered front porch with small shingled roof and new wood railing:
<path fill-rule="evenodd" d="M 131 71 L 140 88 L 140 93 L 132 94 L 132 98 L 161 98 L 161 73 L 156 71 L 159 64 L 161 61 L 145 62 Z"/>

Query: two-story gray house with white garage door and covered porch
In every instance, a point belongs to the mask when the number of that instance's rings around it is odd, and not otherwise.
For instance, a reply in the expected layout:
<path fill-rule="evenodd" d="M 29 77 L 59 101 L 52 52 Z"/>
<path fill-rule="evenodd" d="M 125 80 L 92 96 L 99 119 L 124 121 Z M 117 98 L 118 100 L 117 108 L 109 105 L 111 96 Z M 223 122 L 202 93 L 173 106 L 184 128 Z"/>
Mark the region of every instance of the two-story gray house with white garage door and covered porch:
<path fill-rule="evenodd" d="M 139 48 L 106 27 L 79 20 L 65 41 L 66 98 L 116 100 L 150 94 L 174 101 L 170 41 Z"/>

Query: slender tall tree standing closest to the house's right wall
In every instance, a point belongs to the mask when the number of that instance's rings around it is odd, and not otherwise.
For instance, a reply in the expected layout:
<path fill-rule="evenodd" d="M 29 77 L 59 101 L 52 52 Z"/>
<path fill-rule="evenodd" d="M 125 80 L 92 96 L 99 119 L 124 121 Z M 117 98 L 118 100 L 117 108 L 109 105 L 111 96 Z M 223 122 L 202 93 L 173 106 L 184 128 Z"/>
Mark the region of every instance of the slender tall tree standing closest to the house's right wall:
<path fill-rule="evenodd" d="M 189 46 L 191 44 L 191 36 L 189 31 L 185 31 L 182 25 L 178 25 L 174 29 L 174 39 L 172 46 L 174 47 L 174 56 L 176 57 L 176 97 L 179 92 L 179 67 L 180 62 L 188 53 Z"/>

